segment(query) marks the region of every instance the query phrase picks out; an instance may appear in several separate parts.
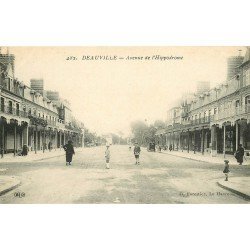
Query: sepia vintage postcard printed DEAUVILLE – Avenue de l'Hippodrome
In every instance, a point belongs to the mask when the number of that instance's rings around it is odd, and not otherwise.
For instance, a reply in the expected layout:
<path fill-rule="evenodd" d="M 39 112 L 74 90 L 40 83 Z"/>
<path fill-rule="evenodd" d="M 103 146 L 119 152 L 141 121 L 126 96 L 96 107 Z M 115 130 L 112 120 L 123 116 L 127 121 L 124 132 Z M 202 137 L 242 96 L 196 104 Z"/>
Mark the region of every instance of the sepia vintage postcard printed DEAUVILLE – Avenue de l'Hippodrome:
<path fill-rule="evenodd" d="M 250 47 L 1 47 L 0 204 L 250 201 Z"/>

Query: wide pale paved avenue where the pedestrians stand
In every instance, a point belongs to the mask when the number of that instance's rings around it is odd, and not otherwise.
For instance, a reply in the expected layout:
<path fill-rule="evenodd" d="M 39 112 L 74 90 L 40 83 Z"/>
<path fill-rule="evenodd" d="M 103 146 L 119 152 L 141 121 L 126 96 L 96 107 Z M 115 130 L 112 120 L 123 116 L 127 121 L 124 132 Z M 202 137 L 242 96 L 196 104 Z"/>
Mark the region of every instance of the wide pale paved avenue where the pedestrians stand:
<path fill-rule="evenodd" d="M 78 152 L 72 166 L 64 157 L 34 163 L 4 164 L 21 186 L 0 197 L 0 203 L 248 203 L 217 186 L 223 166 L 142 150 L 134 165 L 127 146 L 111 147 L 111 169 L 105 169 L 104 147 Z M 250 175 L 243 167 L 235 176 Z M 18 198 L 20 191 L 25 197 Z"/>

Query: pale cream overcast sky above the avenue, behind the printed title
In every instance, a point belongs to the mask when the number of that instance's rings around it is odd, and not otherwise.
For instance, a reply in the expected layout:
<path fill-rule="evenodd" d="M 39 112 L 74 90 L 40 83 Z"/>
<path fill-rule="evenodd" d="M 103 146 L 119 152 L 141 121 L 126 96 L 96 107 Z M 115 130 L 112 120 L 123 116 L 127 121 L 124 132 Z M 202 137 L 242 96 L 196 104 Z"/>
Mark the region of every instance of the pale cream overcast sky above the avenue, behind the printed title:
<path fill-rule="evenodd" d="M 10 47 L 15 73 L 29 85 L 43 78 L 46 90 L 68 99 L 74 115 L 99 134 L 123 131 L 137 119 L 166 119 L 166 112 L 197 81 L 226 79 L 226 60 L 244 47 Z M 84 55 L 183 56 L 183 60 L 81 60 Z M 68 56 L 78 60 L 68 61 Z"/>

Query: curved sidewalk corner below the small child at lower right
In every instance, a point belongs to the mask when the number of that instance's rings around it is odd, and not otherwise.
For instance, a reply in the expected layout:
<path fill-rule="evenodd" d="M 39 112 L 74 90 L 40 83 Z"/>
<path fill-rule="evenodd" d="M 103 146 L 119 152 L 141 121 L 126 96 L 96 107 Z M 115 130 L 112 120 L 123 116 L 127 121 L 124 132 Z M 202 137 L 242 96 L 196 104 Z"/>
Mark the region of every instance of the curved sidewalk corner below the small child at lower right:
<path fill-rule="evenodd" d="M 250 177 L 229 177 L 228 181 L 220 180 L 217 184 L 250 201 Z"/>

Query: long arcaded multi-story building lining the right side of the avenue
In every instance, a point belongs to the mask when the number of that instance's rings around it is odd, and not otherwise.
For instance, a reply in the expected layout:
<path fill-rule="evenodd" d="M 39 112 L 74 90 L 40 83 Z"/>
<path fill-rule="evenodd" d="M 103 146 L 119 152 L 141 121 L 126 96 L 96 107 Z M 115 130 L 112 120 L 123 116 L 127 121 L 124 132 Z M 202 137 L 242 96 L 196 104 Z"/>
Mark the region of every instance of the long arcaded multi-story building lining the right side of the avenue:
<path fill-rule="evenodd" d="M 233 154 L 239 144 L 250 152 L 250 48 L 238 74 L 209 91 L 182 100 L 179 123 L 169 118 L 165 129 L 174 150 Z M 177 107 L 170 109 L 170 113 Z"/>

